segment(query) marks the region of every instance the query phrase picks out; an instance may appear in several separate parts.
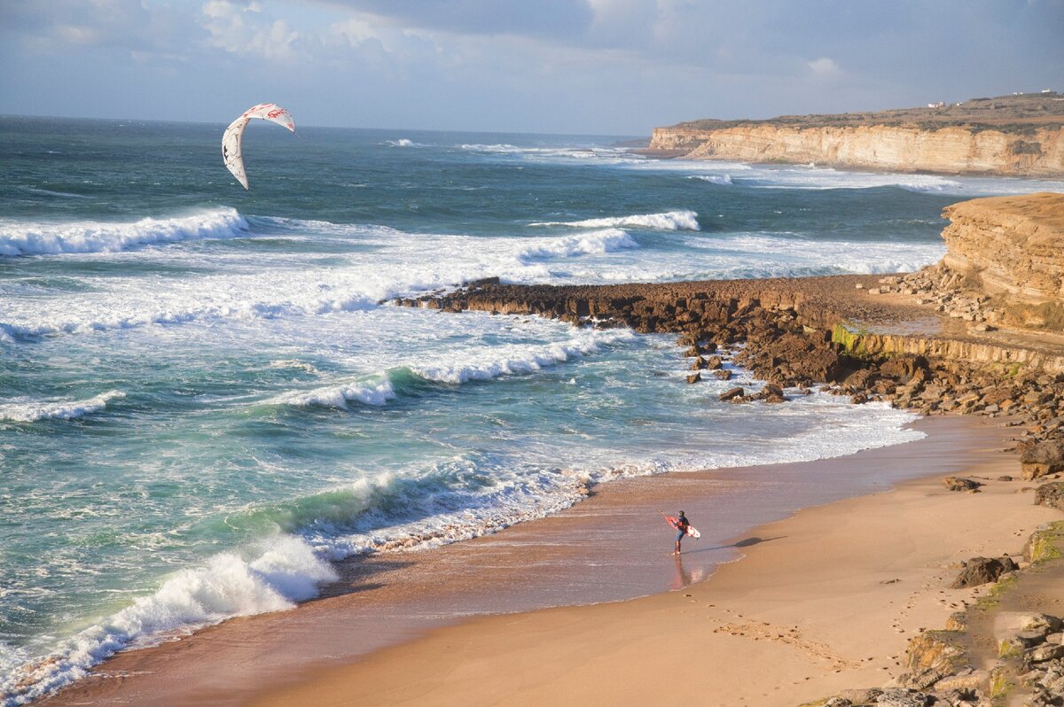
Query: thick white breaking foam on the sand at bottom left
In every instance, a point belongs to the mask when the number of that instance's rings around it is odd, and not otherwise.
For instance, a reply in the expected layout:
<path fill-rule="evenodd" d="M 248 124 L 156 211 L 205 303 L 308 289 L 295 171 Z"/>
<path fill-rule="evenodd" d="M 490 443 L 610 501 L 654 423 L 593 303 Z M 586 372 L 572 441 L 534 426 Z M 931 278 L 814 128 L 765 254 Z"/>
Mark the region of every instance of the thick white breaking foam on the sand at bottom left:
<path fill-rule="evenodd" d="M 233 617 L 290 608 L 315 596 L 321 583 L 336 579 L 332 567 L 299 538 L 280 536 L 263 545 L 268 550 L 252 560 L 222 553 L 204 567 L 182 570 L 154 593 L 64 641 L 51 655 L 16 669 L 0 683 L 3 705 L 23 705 L 80 679 L 130 645 Z"/>

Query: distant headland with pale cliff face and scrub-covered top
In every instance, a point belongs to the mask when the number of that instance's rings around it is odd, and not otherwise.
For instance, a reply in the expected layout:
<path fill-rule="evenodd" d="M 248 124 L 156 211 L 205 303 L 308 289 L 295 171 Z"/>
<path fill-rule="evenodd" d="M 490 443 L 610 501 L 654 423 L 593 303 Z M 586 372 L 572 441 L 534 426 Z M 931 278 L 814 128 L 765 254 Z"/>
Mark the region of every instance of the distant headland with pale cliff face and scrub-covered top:
<path fill-rule="evenodd" d="M 700 120 L 655 128 L 651 151 L 692 159 L 815 163 L 891 171 L 1064 176 L 1064 97 L 942 108 Z"/>

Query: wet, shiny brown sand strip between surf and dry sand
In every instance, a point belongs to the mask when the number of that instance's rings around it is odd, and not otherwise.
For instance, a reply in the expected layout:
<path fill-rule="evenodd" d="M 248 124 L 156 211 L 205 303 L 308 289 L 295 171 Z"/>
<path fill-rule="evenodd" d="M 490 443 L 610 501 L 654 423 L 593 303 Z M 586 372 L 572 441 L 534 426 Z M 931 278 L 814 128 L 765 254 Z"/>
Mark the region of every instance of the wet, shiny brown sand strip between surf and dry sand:
<path fill-rule="evenodd" d="M 633 602 L 614 602 L 643 594 L 651 595 L 649 602 L 655 596 L 675 595 L 676 592 L 662 592 L 696 584 L 718 565 L 725 568 L 717 572 L 721 576 L 733 571 L 742 575 L 744 571 L 737 568 L 749 566 L 747 560 L 728 562 L 738 558 L 739 553 L 761 555 L 762 546 L 780 544 L 765 540 L 783 533 L 774 529 L 775 522 L 763 525 L 777 520 L 766 518 L 752 523 L 751 527 L 761 527 L 742 537 L 713 537 L 713 511 L 706 504 L 742 510 L 728 502 L 728 494 L 739 490 L 744 483 L 760 483 L 759 492 L 764 492 L 769 482 L 775 482 L 778 490 L 793 493 L 793 488 L 786 486 L 787 477 L 801 477 L 812 469 L 821 478 L 845 481 L 847 470 L 861 464 L 868 473 L 877 469 L 883 472 L 881 488 L 890 486 L 892 473 L 895 481 L 930 475 L 930 481 L 915 483 L 941 488 L 934 477 L 968 469 L 987 455 L 995 464 L 1016 466 L 1012 455 L 987 452 L 1002 445 L 1009 435 L 1007 428 L 957 417 L 925 419 L 916 424 L 929 432 L 927 438 L 834 459 L 625 479 L 597 488 L 589 499 L 558 516 L 512 526 L 493 536 L 432 553 L 348 562 L 342 566 L 342 580 L 322 599 L 290 611 L 231 620 L 185 640 L 120 653 L 88 678 L 39 704 L 139 701 L 156 705 L 189 702 L 229 705 L 245 704 L 253 695 L 257 695 L 255 700 L 315 704 L 328 696 L 317 692 L 289 695 L 288 691 L 314 691 L 322 685 L 334 685 L 332 671 L 347 675 L 345 671 L 368 670 L 367 666 L 377 666 L 379 660 L 386 661 L 393 655 L 397 656 L 401 676 L 402 666 L 411 659 L 410 655 L 420 655 L 417 652 L 426 641 L 431 643 L 448 630 L 465 632 L 470 630 L 467 626 L 480 626 L 483 621 L 492 623 L 492 617 L 468 620 L 470 615 L 504 613 L 495 619 L 505 625 L 512 617 L 529 616 L 533 617 L 530 620 L 538 621 L 534 617 L 544 615 L 543 611 L 513 612 L 544 606 L 601 602 L 573 610 L 579 616 L 585 610 L 613 611 L 619 609 L 596 607 L 627 606 Z M 908 484 L 902 486 L 908 488 Z M 839 496 L 846 495 L 852 493 L 844 489 Z M 875 500 L 884 495 L 888 494 L 877 492 L 864 498 Z M 656 517 L 660 507 L 676 505 L 677 498 L 684 499 L 688 515 L 703 531 L 702 542 L 687 548 L 681 566 L 662 552 L 663 546 L 670 545 L 671 538 Z M 1027 495 L 1023 505 L 1030 502 Z M 816 517 L 830 512 L 826 509 L 836 505 L 820 504 L 780 522 Z M 1024 511 L 1028 509 L 1025 507 Z M 627 528 L 628 535 L 613 535 L 618 528 Z M 603 557 L 603 549 L 610 550 L 612 557 Z M 587 562 L 593 565 L 588 567 Z M 472 582 L 470 567 L 476 570 Z M 758 572 L 761 570 L 754 574 Z M 701 587 L 717 584 L 714 575 L 712 582 Z M 800 593 L 793 599 L 804 601 Z M 555 610 L 566 609 L 546 609 L 545 616 L 552 616 L 550 612 Z M 757 662 L 752 656 L 748 658 Z M 387 673 L 390 669 L 383 670 Z M 415 672 L 420 674 L 421 668 Z M 311 681 L 306 681 L 307 676 L 313 676 Z M 409 678 L 410 675 L 403 679 Z M 335 679 L 347 685 L 347 677 Z M 372 684 L 385 683 L 373 677 Z M 347 687 L 342 693 L 351 694 Z M 390 703 L 399 697 L 375 698 Z"/>

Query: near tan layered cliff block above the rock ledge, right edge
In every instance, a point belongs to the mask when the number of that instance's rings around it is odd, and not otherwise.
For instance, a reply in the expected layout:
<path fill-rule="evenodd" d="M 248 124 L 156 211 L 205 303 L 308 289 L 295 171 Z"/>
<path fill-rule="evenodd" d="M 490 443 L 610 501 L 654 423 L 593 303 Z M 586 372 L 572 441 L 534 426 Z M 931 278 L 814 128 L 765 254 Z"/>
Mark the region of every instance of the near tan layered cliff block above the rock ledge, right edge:
<path fill-rule="evenodd" d="M 985 294 L 1064 300 L 1064 193 L 972 199 L 947 206 L 942 265 Z"/>

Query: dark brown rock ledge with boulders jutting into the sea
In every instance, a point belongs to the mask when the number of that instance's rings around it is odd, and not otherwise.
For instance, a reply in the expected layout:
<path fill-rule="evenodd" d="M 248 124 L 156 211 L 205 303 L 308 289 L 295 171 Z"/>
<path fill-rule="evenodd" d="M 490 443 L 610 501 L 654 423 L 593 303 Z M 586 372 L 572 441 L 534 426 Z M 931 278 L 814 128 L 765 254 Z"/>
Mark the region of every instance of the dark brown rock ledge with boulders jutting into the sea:
<path fill-rule="evenodd" d="M 784 389 L 802 393 L 826 385 L 854 403 L 890 401 L 924 415 L 1008 416 L 1017 440 L 1032 449 L 1064 427 L 1064 356 L 951 336 L 935 329 L 946 317 L 877 302 L 866 293 L 874 288 L 858 289 L 868 282 L 855 275 L 600 286 L 493 280 L 396 302 L 678 334 L 691 359 L 688 383 L 703 374 L 725 377 L 722 364 L 731 361 L 768 384 L 757 394 L 730 390 L 724 397 L 730 402 L 782 402 Z M 913 319 L 933 331 L 901 332 Z"/>

